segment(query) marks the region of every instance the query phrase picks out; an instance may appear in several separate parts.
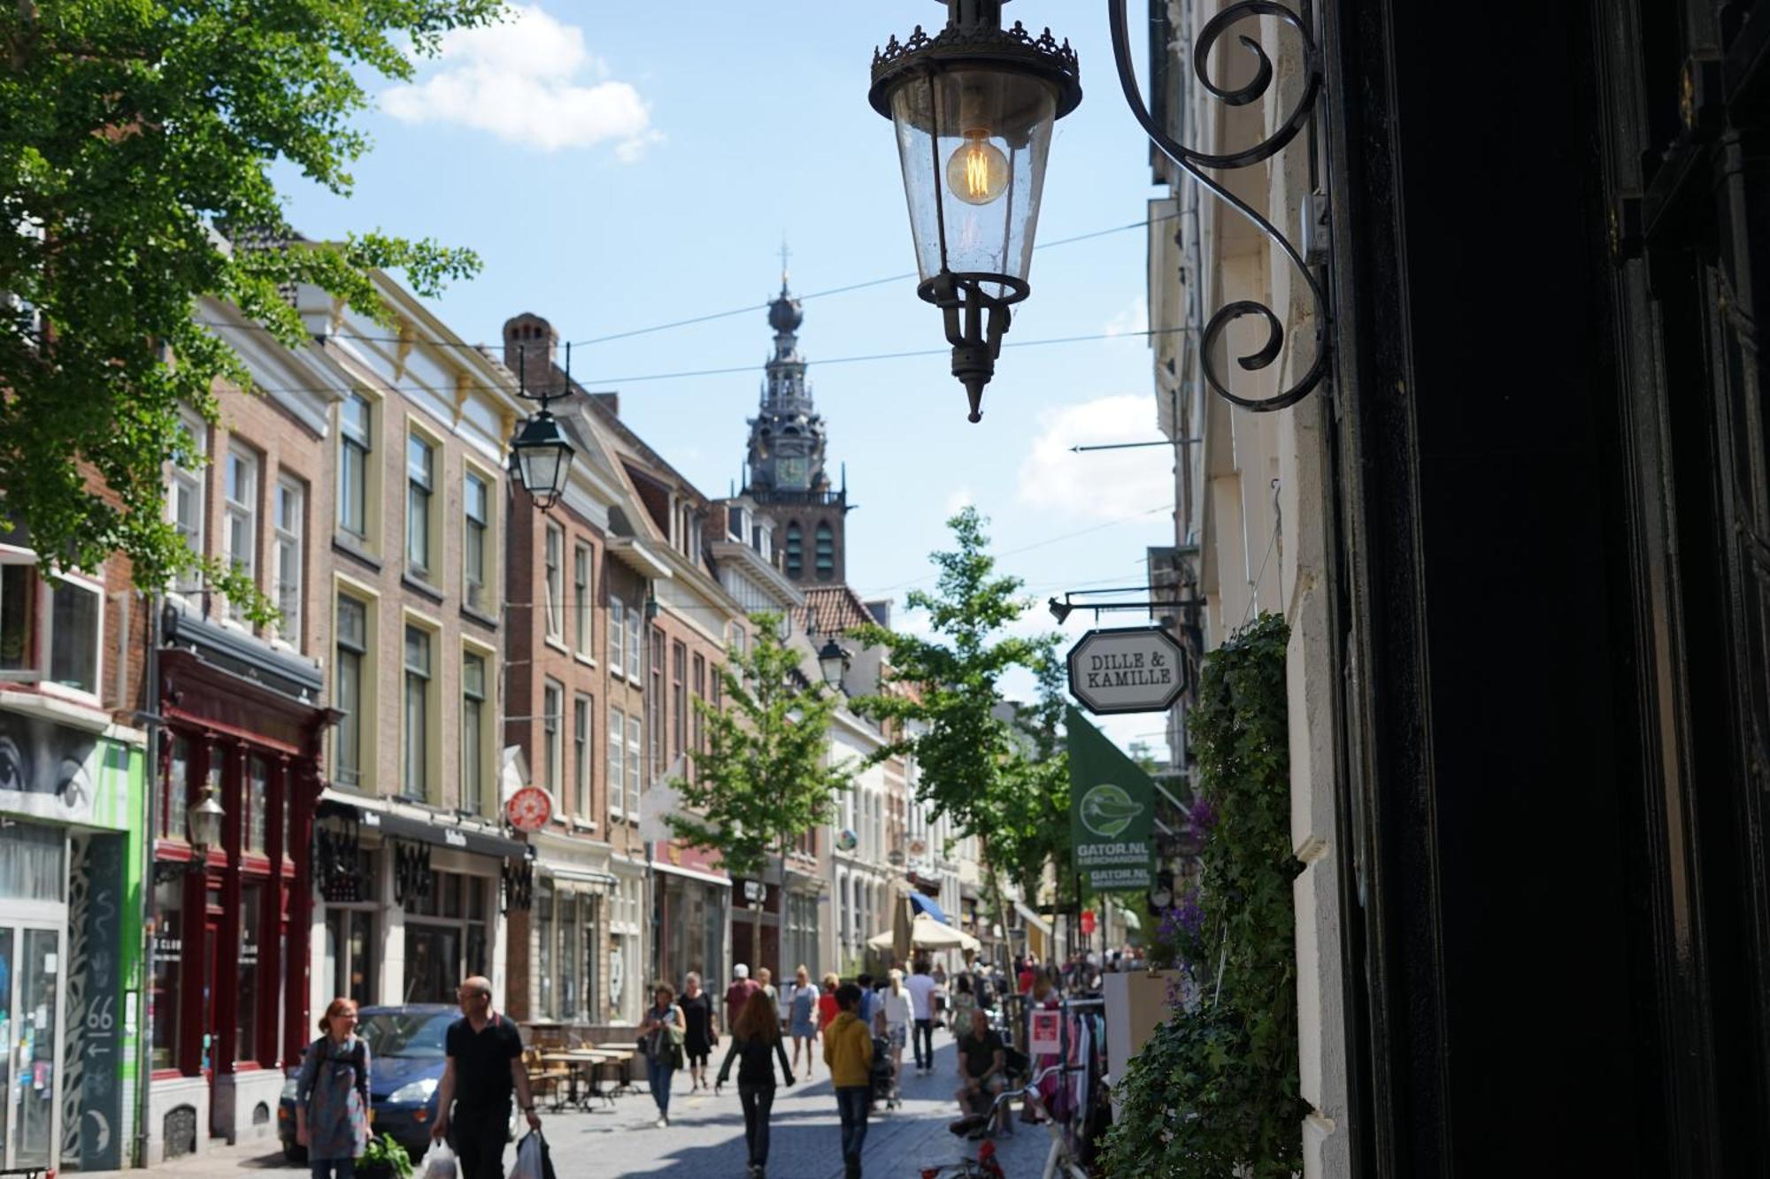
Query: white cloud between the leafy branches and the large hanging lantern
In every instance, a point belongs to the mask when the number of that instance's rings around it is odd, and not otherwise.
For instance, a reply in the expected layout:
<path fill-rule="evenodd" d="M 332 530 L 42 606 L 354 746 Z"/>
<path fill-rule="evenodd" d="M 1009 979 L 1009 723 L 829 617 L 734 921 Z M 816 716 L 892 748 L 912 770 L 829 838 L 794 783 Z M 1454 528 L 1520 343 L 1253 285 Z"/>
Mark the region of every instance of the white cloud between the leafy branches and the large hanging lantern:
<path fill-rule="evenodd" d="M 435 73 L 384 90 L 382 110 L 402 122 L 458 124 L 543 152 L 612 143 L 621 163 L 664 138 L 639 90 L 609 80 L 607 66 L 584 48 L 582 28 L 533 5 L 510 12 L 501 25 L 444 34 Z"/>

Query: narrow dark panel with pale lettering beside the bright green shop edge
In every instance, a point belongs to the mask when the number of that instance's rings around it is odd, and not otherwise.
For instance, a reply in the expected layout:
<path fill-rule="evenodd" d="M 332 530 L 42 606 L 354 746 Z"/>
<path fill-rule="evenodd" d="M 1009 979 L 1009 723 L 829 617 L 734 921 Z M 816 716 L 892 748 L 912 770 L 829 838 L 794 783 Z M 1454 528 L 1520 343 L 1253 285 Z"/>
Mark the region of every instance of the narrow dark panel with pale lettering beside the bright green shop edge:
<path fill-rule="evenodd" d="M 122 905 L 124 836 L 87 850 L 87 1014 L 80 1027 L 80 1168 L 122 1167 Z"/>

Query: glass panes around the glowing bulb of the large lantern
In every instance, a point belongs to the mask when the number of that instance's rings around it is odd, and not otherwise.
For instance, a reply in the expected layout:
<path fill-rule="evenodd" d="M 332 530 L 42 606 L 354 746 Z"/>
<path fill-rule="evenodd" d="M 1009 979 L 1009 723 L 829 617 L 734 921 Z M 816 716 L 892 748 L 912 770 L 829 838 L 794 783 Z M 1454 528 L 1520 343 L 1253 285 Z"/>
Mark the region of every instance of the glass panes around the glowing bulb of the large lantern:
<path fill-rule="evenodd" d="M 1055 119 L 1051 89 L 1009 71 L 912 78 L 892 94 L 915 262 L 924 280 L 942 264 L 956 274 L 1028 278 Z M 984 285 L 984 294 L 1002 296 L 1007 289 Z"/>

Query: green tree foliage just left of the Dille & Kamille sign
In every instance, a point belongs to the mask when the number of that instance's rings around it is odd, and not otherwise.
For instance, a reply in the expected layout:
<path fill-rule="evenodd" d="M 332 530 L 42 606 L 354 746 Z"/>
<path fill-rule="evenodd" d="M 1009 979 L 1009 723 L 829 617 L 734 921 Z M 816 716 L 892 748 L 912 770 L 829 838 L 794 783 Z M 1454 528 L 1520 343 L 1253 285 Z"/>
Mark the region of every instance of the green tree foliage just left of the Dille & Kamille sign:
<path fill-rule="evenodd" d="M 1060 747 L 1060 703 L 1050 692 L 1041 696 L 1021 728 L 998 715 L 1000 683 L 1014 667 L 1027 667 L 1043 671 L 1055 692 L 1057 636 L 1002 636 L 1032 602 L 1020 595 L 1018 577 L 997 574 L 984 522 L 970 506 L 947 520 L 954 549 L 933 554 L 940 568 L 935 591 L 912 590 L 906 598 L 910 609 L 927 613 L 931 637 L 874 625 L 855 630 L 866 646 L 885 648 L 885 682 L 906 690 L 857 697 L 853 708 L 896 735 L 874 759 L 913 754 L 920 795 L 935 818 L 950 814 L 959 832 L 982 839 L 989 867 L 1027 883 L 1044 862 L 1043 839 L 1051 827 L 1055 788 L 1046 779 Z M 1064 807 L 1055 814 L 1067 834 L 1067 767 L 1058 777 Z"/>

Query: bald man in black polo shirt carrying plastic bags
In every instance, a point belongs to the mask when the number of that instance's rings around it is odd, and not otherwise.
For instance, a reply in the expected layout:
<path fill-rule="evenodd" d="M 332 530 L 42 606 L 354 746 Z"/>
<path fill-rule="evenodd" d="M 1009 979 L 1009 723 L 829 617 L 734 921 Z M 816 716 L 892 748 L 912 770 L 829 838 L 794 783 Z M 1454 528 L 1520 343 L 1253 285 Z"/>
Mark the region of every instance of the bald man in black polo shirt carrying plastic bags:
<path fill-rule="evenodd" d="M 522 1067 L 522 1034 L 508 1018 L 492 1011 L 492 984 L 473 977 L 455 993 L 460 1018 L 450 1023 L 442 1085 L 437 1092 L 437 1122 L 432 1138 L 448 1135 L 460 1160 L 460 1179 L 504 1179 L 504 1142 L 510 1137 L 510 1092 L 527 1114 L 529 1129 L 540 1129 L 529 1071 Z M 453 1103 L 453 1105 L 451 1105 Z M 455 1133 L 448 1133 L 453 1129 Z"/>

